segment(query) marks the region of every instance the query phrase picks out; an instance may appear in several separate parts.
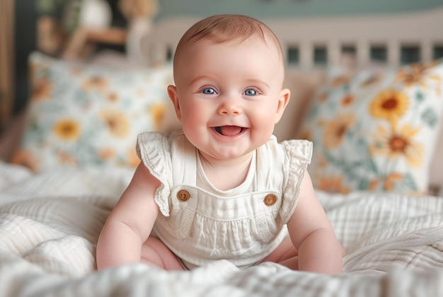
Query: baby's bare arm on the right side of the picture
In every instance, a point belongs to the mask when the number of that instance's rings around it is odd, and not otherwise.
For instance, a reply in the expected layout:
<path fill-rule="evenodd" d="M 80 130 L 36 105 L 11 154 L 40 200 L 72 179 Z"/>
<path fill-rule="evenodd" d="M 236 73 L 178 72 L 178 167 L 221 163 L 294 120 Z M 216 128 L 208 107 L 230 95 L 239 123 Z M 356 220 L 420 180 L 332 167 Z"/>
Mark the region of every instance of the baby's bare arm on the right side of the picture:
<path fill-rule="evenodd" d="M 299 270 L 325 274 L 343 271 L 344 250 L 316 199 L 307 172 L 301 182 L 299 202 L 287 226 L 292 243 L 299 251 Z"/>

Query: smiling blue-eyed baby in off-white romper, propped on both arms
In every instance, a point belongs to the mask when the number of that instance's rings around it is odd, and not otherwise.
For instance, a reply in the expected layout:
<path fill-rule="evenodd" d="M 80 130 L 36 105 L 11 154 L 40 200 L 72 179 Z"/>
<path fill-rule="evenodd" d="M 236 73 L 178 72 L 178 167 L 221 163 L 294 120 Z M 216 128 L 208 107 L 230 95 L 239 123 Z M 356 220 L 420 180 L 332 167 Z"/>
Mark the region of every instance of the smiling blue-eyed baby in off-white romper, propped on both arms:
<path fill-rule="evenodd" d="M 224 259 L 342 272 L 343 249 L 306 171 L 311 142 L 272 136 L 290 92 L 270 28 L 206 18 L 180 39 L 173 67 L 168 95 L 183 131 L 139 135 L 142 163 L 100 234 L 98 269 Z"/>

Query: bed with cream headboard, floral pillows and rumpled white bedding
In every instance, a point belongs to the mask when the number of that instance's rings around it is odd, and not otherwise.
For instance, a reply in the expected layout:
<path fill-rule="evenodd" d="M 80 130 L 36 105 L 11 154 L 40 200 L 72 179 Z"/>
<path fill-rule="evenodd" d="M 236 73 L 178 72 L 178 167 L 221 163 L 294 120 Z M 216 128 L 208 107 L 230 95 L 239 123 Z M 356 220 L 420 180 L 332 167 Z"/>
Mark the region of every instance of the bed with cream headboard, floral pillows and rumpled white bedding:
<path fill-rule="evenodd" d="M 157 23 L 143 67 L 30 56 L 28 110 L 0 145 L 23 130 L 0 162 L 0 296 L 442 296 L 443 7 L 263 20 L 292 91 L 275 134 L 314 142 L 309 170 L 347 254 L 342 274 L 224 260 L 96 271 L 98 235 L 138 163 L 134 137 L 177 128 L 166 85 L 196 20 Z"/>

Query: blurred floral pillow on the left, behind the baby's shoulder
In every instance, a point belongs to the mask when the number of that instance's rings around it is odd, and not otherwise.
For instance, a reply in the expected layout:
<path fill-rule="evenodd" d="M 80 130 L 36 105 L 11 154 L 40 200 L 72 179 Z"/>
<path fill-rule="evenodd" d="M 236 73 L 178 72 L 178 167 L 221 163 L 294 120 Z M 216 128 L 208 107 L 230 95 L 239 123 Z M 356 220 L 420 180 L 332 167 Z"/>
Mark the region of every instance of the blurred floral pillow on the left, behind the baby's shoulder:
<path fill-rule="evenodd" d="M 35 171 L 70 166 L 136 166 L 137 134 L 161 129 L 171 65 L 108 69 L 35 52 L 21 148 L 13 163 Z"/>

